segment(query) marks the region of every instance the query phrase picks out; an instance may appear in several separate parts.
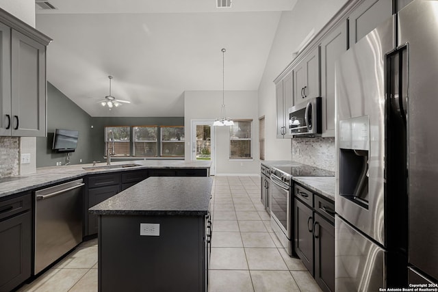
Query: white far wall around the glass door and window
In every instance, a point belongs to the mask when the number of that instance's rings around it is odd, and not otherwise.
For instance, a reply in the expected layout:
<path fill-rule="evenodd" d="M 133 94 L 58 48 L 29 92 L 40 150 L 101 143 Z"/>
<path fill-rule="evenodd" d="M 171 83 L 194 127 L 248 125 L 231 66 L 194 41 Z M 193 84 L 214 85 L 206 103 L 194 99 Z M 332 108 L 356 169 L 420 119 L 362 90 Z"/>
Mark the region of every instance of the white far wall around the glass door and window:
<path fill-rule="evenodd" d="M 253 159 L 229 159 L 229 127 L 216 127 L 216 174 L 257 174 L 259 163 L 259 116 L 257 91 L 226 91 L 227 117 L 253 119 Z M 192 120 L 220 118 L 222 91 L 186 91 L 184 93 L 185 159 L 191 159 Z M 289 150 L 290 152 L 290 150 Z"/>

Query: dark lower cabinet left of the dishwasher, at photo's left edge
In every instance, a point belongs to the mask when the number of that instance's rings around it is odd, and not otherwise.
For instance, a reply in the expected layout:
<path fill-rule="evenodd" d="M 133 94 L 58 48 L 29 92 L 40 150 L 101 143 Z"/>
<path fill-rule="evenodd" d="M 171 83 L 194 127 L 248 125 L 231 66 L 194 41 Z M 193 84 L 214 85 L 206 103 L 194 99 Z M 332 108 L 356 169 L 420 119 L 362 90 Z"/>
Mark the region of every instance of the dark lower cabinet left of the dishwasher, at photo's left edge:
<path fill-rule="evenodd" d="M 0 291 L 31 276 L 31 194 L 0 202 Z"/>

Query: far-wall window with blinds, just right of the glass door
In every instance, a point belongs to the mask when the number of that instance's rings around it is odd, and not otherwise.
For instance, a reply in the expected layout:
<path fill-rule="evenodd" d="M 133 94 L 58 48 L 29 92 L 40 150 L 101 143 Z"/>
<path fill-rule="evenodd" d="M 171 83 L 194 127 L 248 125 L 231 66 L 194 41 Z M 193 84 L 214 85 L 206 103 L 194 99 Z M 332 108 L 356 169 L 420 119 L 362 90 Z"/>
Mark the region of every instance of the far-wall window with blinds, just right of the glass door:
<path fill-rule="evenodd" d="M 253 120 L 234 120 L 230 126 L 230 159 L 252 159 L 251 126 Z"/>

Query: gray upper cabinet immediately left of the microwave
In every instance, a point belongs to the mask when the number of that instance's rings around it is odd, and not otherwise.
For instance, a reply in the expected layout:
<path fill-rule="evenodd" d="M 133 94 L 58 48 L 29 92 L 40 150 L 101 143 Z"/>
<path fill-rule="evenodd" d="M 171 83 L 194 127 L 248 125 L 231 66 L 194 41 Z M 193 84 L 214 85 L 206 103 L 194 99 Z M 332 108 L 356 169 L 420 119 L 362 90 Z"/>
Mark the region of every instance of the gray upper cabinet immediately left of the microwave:
<path fill-rule="evenodd" d="M 281 81 L 275 85 L 276 95 L 276 137 L 292 138 L 289 130 L 289 107 L 294 106 L 294 75 L 289 72 Z"/>

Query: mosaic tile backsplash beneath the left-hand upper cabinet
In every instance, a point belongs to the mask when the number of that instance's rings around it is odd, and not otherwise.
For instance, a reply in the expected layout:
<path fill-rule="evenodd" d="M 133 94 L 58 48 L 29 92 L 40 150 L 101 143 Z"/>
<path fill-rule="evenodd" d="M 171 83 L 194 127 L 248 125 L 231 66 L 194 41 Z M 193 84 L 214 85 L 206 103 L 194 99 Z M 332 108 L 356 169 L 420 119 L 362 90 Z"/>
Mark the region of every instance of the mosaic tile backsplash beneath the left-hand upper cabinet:
<path fill-rule="evenodd" d="M 19 137 L 0 137 L 0 178 L 18 175 Z"/>

